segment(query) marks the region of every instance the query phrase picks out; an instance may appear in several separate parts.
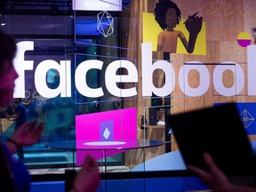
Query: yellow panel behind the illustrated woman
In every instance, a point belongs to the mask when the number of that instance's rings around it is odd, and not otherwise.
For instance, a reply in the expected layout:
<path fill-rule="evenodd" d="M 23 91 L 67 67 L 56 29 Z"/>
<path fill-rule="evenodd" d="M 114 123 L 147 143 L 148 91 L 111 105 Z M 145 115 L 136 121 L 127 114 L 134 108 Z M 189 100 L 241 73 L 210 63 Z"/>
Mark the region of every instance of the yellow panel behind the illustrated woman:
<path fill-rule="evenodd" d="M 183 24 L 185 19 L 180 20 L 180 25 L 177 25 L 175 29 L 181 30 L 188 40 L 188 30 Z M 150 12 L 142 12 L 142 22 L 143 22 L 143 43 L 152 43 L 152 51 L 156 52 L 157 46 L 157 35 L 162 31 L 158 23 L 155 20 L 154 14 Z M 203 21 L 203 26 L 200 33 L 196 39 L 195 50 L 192 54 L 196 55 L 206 55 L 206 31 L 205 22 Z M 177 44 L 177 53 L 188 54 L 185 47 L 181 43 L 180 39 Z"/>

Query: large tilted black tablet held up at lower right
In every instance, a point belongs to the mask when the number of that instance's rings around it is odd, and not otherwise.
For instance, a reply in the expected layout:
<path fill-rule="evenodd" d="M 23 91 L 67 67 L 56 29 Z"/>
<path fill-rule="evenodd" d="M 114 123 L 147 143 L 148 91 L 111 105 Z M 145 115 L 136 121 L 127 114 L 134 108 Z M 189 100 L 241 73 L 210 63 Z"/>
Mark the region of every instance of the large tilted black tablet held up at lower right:
<path fill-rule="evenodd" d="M 169 115 L 166 124 L 172 128 L 185 164 L 207 171 L 203 154 L 208 152 L 234 182 L 254 184 L 255 157 L 236 103 Z"/>

